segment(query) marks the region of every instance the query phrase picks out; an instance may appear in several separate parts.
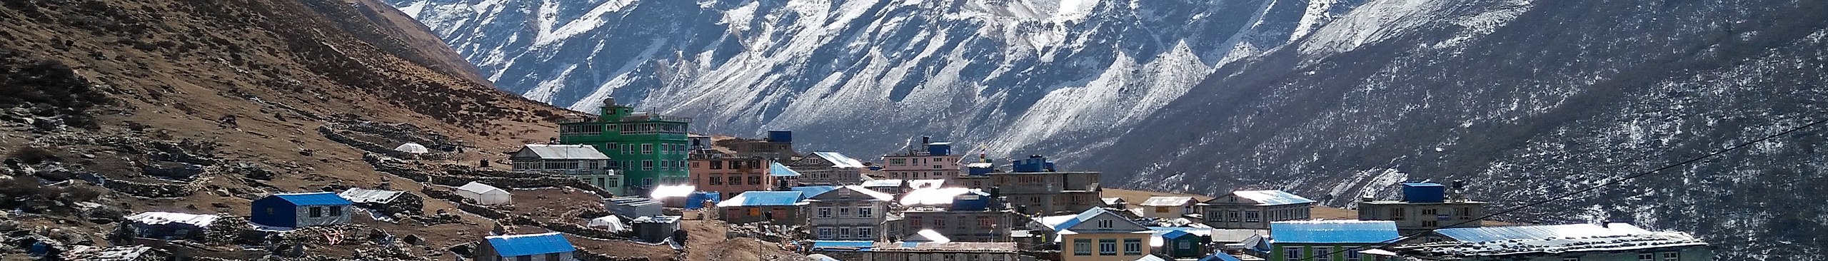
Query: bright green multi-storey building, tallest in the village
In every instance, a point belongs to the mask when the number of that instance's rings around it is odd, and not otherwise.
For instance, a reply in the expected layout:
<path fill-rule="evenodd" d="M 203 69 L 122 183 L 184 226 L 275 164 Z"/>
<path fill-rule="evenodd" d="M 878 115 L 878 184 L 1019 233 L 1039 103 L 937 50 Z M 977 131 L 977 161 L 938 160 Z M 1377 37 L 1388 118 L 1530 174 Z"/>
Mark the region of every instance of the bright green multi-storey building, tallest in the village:
<path fill-rule="evenodd" d="M 561 144 L 590 144 L 609 155 L 609 168 L 623 173 L 623 188 L 645 195 L 660 184 L 686 184 L 689 117 L 636 113 L 634 108 L 603 100 L 598 119 L 559 124 Z"/>

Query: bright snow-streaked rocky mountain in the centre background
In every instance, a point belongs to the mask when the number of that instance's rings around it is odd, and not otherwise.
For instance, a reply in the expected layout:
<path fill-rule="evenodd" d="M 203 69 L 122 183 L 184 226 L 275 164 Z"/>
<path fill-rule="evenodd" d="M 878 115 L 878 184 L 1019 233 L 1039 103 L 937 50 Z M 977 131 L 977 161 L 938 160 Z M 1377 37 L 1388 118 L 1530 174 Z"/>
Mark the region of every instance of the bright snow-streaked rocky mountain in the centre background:
<path fill-rule="evenodd" d="M 1104 142 L 1212 68 L 1356 0 L 391 0 L 503 89 L 607 97 L 715 133 L 793 130 L 883 153 L 938 135 L 993 153 Z"/>

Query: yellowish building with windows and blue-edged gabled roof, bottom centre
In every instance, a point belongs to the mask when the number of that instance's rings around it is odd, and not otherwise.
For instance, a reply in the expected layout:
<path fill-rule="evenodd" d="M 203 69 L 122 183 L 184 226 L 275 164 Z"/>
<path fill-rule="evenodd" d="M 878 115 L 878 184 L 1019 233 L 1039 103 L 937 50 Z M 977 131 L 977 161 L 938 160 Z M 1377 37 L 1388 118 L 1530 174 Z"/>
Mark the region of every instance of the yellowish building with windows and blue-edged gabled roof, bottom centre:
<path fill-rule="evenodd" d="M 1104 208 L 1046 223 L 1058 234 L 1062 261 L 1135 261 L 1148 256 L 1148 239 L 1153 234 Z"/>

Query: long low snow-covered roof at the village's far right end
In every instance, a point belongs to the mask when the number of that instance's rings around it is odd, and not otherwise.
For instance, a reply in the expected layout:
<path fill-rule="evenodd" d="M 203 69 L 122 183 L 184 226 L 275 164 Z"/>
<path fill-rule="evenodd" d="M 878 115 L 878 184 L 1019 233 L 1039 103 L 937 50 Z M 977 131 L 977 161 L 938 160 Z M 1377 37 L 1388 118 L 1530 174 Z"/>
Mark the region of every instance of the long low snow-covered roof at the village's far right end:
<path fill-rule="evenodd" d="M 1684 232 L 1649 232 L 1631 224 L 1610 224 L 1610 228 L 1598 224 L 1490 226 L 1442 228 L 1435 232 L 1455 241 L 1402 248 L 1448 256 L 1510 256 L 1707 245 Z"/>

